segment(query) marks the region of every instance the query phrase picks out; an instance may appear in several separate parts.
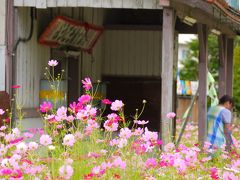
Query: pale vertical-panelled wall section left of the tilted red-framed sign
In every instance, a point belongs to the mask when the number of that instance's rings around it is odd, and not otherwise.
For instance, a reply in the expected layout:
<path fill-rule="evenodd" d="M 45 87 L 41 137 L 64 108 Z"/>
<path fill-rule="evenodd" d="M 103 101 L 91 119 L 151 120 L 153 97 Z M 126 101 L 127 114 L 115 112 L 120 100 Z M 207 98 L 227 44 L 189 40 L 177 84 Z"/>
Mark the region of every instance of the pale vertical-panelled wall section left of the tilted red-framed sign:
<path fill-rule="evenodd" d="M 18 37 L 26 37 L 30 31 L 30 9 L 18 10 Z M 16 54 L 18 102 L 23 108 L 39 106 L 39 83 L 43 60 L 48 60 L 50 50 L 37 43 L 37 21 L 34 21 L 32 39 L 27 43 L 20 43 Z"/>

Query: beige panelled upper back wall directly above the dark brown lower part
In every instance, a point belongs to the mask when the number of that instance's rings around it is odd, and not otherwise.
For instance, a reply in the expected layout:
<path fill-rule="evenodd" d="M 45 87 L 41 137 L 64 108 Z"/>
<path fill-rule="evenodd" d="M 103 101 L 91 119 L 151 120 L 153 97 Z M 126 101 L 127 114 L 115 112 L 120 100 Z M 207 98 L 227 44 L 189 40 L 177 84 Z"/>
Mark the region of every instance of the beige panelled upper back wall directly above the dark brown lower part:
<path fill-rule="evenodd" d="M 104 34 L 104 75 L 160 76 L 161 32 L 108 30 Z"/>

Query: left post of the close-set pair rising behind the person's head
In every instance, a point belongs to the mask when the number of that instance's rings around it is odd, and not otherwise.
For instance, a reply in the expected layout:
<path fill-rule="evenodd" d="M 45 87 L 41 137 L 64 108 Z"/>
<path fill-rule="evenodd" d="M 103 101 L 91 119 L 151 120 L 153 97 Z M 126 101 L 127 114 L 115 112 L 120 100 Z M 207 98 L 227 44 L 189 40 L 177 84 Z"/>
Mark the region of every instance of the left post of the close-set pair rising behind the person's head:
<path fill-rule="evenodd" d="M 227 37 L 221 34 L 218 37 L 219 42 L 219 81 L 218 96 L 219 98 L 226 94 L 227 80 Z"/>

